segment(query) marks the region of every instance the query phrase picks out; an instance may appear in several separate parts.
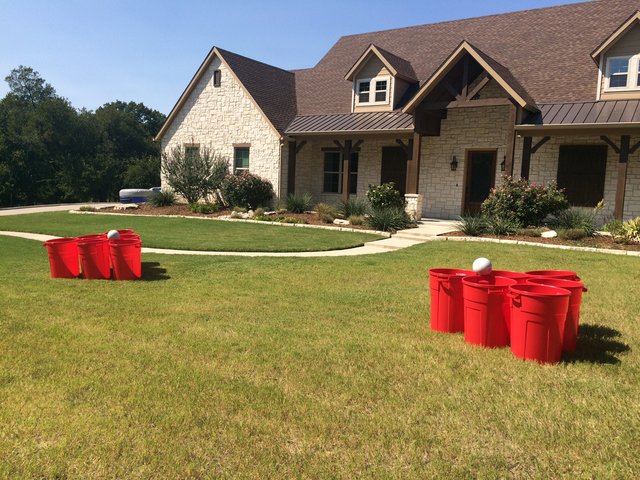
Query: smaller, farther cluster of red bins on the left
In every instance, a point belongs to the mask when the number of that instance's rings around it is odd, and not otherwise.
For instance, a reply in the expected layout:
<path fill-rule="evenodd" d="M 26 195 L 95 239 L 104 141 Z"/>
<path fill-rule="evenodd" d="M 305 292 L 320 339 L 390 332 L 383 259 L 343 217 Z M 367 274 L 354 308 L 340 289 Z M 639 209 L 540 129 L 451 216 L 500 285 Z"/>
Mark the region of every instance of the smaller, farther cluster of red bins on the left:
<path fill-rule="evenodd" d="M 118 230 L 117 240 L 109 240 L 106 233 L 73 238 L 47 240 L 51 278 L 89 280 L 135 280 L 142 276 L 140 236 L 133 230 Z"/>

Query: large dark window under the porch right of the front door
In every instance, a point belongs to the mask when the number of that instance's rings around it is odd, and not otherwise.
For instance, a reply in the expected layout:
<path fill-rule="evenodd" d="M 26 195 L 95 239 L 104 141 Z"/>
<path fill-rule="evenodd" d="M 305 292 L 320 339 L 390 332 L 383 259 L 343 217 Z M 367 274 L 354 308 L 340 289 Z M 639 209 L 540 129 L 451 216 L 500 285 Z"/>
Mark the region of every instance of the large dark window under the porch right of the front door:
<path fill-rule="evenodd" d="M 571 205 L 595 207 L 602 200 L 606 169 L 606 145 L 560 146 L 558 187 Z"/>

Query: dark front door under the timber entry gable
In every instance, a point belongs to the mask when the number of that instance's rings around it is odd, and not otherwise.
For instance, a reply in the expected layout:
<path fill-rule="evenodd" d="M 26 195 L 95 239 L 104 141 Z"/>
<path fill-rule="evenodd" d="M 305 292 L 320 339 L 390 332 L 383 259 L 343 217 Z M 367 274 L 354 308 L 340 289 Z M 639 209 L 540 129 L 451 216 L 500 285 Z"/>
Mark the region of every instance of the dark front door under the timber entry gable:
<path fill-rule="evenodd" d="M 467 153 L 464 182 L 464 214 L 480 212 L 496 180 L 496 152 L 493 150 Z"/>

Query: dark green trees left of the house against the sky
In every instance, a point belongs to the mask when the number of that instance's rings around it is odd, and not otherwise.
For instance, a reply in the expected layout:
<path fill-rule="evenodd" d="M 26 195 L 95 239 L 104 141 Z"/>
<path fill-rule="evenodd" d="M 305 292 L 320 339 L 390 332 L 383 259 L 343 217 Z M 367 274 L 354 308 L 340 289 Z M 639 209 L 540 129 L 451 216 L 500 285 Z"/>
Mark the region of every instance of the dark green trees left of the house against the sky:
<path fill-rule="evenodd" d="M 0 100 L 0 207 L 109 201 L 160 184 L 164 114 L 115 101 L 75 109 L 30 67 L 5 78 Z"/>

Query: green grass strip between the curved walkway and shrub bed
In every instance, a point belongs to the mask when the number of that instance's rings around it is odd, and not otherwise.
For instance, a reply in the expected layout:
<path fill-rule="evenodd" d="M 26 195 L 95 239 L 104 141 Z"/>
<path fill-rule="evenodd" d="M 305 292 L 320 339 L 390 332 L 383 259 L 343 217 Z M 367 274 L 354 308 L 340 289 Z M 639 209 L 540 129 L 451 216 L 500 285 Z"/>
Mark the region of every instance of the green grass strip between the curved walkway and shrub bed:
<path fill-rule="evenodd" d="M 0 217 L 0 230 L 76 236 L 132 228 L 145 247 L 225 252 L 313 252 L 363 245 L 382 237 L 317 228 L 291 228 L 188 218 L 77 215 L 68 212 Z"/>

